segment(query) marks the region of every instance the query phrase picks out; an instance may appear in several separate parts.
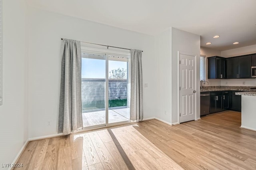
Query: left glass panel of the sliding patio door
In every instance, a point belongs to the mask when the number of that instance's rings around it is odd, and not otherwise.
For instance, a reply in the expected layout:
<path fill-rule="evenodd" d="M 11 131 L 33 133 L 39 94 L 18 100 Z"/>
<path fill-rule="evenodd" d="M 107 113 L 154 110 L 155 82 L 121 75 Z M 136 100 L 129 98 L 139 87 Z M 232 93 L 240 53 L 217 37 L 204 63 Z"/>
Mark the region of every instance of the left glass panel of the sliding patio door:
<path fill-rule="evenodd" d="M 84 127 L 106 124 L 106 55 L 82 53 L 82 117 Z"/>

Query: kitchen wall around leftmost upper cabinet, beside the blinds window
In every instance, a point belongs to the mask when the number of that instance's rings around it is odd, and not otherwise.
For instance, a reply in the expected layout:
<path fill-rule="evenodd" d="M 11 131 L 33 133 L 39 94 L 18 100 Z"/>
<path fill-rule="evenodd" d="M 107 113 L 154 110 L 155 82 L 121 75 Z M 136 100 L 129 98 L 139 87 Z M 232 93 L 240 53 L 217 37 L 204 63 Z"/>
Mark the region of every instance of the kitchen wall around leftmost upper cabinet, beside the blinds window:
<path fill-rule="evenodd" d="M 221 56 L 221 51 L 206 48 L 206 47 L 200 47 L 200 55 L 206 56 L 206 63 L 205 63 L 206 81 L 208 81 L 208 83 L 209 83 L 209 84 L 206 83 L 206 86 L 220 86 L 221 85 L 220 79 L 208 79 L 208 59 L 207 59 L 207 57 Z"/>

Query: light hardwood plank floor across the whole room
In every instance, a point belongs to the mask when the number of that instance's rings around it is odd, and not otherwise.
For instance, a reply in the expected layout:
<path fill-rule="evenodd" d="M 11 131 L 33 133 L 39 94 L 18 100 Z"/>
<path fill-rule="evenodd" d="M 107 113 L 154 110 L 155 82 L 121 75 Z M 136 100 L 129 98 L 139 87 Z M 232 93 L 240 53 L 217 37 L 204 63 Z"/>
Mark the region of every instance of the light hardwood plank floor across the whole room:
<path fill-rule="evenodd" d="M 169 126 L 150 120 L 28 143 L 21 169 L 256 169 L 256 132 L 228 111 Z"/>

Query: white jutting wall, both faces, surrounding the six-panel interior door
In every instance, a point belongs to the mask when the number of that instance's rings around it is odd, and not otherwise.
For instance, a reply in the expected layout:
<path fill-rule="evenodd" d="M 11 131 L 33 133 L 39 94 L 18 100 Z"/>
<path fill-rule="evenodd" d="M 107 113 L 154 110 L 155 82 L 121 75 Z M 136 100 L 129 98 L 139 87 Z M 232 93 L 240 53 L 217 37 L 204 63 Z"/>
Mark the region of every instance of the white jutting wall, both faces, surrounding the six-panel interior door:
<path fill-rule="evenodd" d="M 196 55 L 196 75 L 199 75 L 200 36 L 169 28 L 155 37 L 158 58 L 156 117 L 171 124 L 178 123 L 178 51 Z M 196 77 L 196 101 L 200 99 L 200 80 Z M 196 103 L 196 117 L 200 118 L 200 102 Z"/>

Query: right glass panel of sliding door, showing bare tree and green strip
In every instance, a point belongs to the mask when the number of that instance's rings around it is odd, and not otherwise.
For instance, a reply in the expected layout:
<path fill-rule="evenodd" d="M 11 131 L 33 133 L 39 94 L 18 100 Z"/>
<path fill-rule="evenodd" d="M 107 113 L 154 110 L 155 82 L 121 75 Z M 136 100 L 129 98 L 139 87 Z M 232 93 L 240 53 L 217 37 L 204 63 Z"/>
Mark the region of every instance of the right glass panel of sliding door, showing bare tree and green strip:
<path fill-rule="evenodd" d="M 108 123 L 130 121 L 129 59 L 108 56 Z"/>

